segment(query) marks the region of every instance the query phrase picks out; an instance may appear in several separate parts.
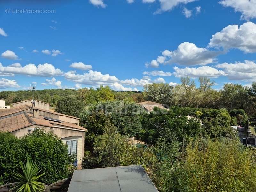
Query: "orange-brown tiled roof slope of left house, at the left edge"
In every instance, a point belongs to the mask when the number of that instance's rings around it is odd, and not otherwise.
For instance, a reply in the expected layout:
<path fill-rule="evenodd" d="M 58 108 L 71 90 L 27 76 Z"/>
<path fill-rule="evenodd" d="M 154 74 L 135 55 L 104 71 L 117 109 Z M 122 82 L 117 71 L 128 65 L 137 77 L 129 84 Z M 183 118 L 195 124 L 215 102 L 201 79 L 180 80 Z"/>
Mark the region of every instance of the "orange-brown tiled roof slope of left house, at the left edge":
<path fill-rule="evenodd" d="M 32 120 L 25 112 L 0 119 L 0 131 L 12 132 L 30 125 L 32 125 Z"/>

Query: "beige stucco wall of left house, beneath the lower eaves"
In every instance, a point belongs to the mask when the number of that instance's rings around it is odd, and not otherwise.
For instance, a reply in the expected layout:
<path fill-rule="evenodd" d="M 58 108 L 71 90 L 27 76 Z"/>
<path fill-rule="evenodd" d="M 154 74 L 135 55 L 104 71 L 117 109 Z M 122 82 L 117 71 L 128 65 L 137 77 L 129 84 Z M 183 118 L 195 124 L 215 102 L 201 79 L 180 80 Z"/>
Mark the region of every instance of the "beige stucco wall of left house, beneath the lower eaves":
<path fill-rule="evenodd" d="M 32 125 L 30 127 L 26 127 L 14 132 L 11 132 L 16 137 L 20 138 L 30 132 L 33 132 L 33 130 L 29 131 L 28 129 L 33 128 L 43 128 L 46 132 L 52 131 L 55 135 L 61 138 L 63 142 L 67 141 L 68 139 L 74 139 L 77 138 L 77 168 L 81 168 L 81 158 L 84 157 L 84 133 L 83 131 L 76 131 L 76 130 L 70 130 L 70 129 L 63 129 L 63 128 L 51 128 L 51 127 L 42 127 L 38 125 Z M 66 143 L 66 142 L 65 142 Z"/>

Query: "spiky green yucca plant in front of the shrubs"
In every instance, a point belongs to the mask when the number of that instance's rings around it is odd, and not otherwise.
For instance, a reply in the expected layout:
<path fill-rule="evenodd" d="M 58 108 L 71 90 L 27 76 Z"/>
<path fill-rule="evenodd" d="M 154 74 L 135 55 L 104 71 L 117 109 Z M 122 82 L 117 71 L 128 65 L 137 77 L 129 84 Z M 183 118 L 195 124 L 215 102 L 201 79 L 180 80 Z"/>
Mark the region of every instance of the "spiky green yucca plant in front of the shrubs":
<path fill-rule="evenodd" d="M 14 173 L 14 178 L 19 182 L 11 190 L 15 192 L 43 192 L 45 190 L 44 183 L 37 180 L 45 173 L 39 175 L 41 170 L 38 169 L 35 162 L 28 160 L 26 164 L 21 165 L 22 173 Z"/>

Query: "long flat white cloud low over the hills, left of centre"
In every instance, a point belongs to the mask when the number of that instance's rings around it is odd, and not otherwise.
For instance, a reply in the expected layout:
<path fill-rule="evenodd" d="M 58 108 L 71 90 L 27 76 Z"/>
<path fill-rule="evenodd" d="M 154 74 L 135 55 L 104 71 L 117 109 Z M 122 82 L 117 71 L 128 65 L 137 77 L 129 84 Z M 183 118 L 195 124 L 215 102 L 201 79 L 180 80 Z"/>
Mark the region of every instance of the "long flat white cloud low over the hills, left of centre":
<path fill-rule="evenodd" d="M 88 71 L 83 75 L 76 74 L 76 71 L 68 71 L 64 74 L 67 80 L 76 82 L 78 84 L 87 85 L 104 85 L 118 82 L 119 80 L 115 76 L 110 76 L 109 74 L 102 74 L 99 71 Z"/>

